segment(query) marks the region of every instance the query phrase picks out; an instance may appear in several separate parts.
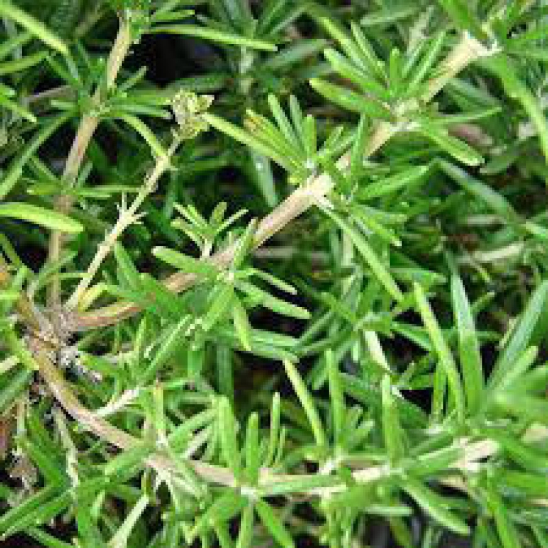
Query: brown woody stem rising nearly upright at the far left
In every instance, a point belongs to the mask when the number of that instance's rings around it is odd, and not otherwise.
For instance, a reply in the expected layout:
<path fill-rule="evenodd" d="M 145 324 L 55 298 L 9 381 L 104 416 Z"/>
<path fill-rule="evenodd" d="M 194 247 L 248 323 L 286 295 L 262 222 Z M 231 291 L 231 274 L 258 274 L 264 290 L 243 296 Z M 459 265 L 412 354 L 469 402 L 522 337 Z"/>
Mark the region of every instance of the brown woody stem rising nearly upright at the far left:
<path fill-rule="evenodd" d="M 114 86 L 116 76 L 121 69 L 123 60 L 129 51 L 131 43 L 130 23 L 127 18 L 124 17 L 121 19 L 116 40 L 114 41 L 114 45 L 108 57 L 105 84 L 104 86 L 99 86 L 93 96 L 92 102 L 95 105 L 100 105 L 101 101 L 104 99 L 105 93 Z M 71 146 L 71 151 L 69 152 L 68 158 L 66 158 L 66 163 L 63 170 L 63 179 L 69 186 L 73 186 L 75 184 L 80 168 L 82 167 L 82 162 L 84 161 L 84 156 L 86 155 L 86 150 L 88 149 L 88 145 L 90 144 L 98 125 L 99 117 L 96 114 L 84 114 L 82 120 L 80 121 L 80 125 Z M 73 197 L 70 195 L 61 196 L 55 200 L 55 210 L 65 214 L 71 210 L 72 205 Z M 58 230 L 54 230 L 49 239 L 49 262 L 59 260 L 63 245 L 64 234 Z M 53 276 L 51 279 L 51 285 L 48 288 L 49 305 L 58 305 L 60 302 L 60 291 L 60 279 L 58 276 Z"/>

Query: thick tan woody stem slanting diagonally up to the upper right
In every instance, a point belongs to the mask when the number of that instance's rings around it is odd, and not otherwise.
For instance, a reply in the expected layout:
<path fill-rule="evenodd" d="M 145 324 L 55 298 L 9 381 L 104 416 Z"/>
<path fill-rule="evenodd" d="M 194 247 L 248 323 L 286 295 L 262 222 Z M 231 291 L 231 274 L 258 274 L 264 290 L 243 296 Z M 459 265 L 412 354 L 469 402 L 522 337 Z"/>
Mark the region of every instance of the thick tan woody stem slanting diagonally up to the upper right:
<path fill-rule="evenodd" d="M 475 38 L 465 33 L 456 46 L 451 50 L 447 58 L 440 66 L 439 75 L 432 79 L 427 85 L 423 101 L 430 101 L 449 80 L 451 80 L 462 69 L 471 64 L 478 58 L 485 57 L 494 53 L 482 46 Z M 400 108 L 401 117 L 405 119 L 406 112 L 417 108 L 416 101 L 402 105 Z M 388 122 L 379 122 L 373 130 L 369 139 L 366 156 L 370 156 L 381 148 L 397 132 L 401 124 L 391 124 Z M 349 165 L 349 153 L 343 155 L 337 162 L 341 170 L 347 169 Z M 327 173 L 318 176 L 312 176 L 308 181 L 299 186 L 292 194 L 287 197 L 275 210 L 264 217 L 258 225 L 255 236 L 255 247 L 260 247 L 266 240 L 277 234 L 291 221 L 296 219 L 303 212 L 306 212 L 312 206 L 320 203 L 329 192 L 334 188 L 334 182 Z M 237 243 L 231 247 L 216 253 L 208 259 L 218 266 L 226 266 L 234 257 L 234 251 L 237 249 Z M 192 286 L 197 280 L 195 275 L 175 273 L 164 282 L 166 288 L 174 292 L 182 292 Z M 102 327 L 119 323 L 140 311 L 140 307 L 134 303 L 114 303 L 110 306 L 98 310 L 77 314 L 73 318 L 73 325 L 78 331 L 87 331 L 95 327 Z"/>

